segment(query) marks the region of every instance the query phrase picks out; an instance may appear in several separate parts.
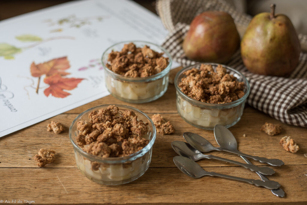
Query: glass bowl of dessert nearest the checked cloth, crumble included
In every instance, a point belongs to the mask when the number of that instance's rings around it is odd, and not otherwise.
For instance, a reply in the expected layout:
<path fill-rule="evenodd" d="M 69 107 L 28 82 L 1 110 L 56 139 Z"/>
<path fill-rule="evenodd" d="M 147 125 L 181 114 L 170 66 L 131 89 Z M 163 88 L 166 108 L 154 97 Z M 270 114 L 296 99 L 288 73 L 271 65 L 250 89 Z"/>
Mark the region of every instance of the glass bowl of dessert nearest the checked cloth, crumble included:
<path fill-rule="evenodd" d="M 250 93 L 249 83 L 240 72 L 214 63 L 183 68 L 175 77 L 175 87 L 178 114 L 206 130 L 217 124 L 227 128 L 235 125 Z"/>

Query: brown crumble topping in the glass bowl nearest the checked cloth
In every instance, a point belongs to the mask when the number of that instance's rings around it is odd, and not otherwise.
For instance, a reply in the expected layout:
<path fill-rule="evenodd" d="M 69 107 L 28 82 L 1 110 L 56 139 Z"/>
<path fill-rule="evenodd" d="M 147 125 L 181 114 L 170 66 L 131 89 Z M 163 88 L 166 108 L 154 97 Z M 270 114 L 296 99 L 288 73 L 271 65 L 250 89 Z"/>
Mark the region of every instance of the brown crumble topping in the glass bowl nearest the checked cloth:
<path fill-rule="evenodd" d="M 231 103 L 244 96 L 244 83 L 229 75 L 222 65 L 216 67 L 202 64 L 200 69 L 192 68 L 183 73 L 179 87 L 190 98 L 204 103 Z"/>

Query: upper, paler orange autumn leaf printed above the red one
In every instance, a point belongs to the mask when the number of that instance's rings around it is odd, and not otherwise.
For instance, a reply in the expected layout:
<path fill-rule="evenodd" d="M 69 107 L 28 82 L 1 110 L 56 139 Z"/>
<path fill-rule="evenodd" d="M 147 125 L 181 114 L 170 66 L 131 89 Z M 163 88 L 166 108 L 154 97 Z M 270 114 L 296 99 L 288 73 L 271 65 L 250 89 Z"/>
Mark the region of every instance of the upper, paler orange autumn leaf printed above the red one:
<path fill-rule="evenodd" d="M 64 70 L 68 68 L 70 68 L 69 61 L 67 60 L 67 56 L 65 56 L 62 58 L 52 59 L 37 65 L 33 62 L 31 64 L 30 71 L 33 77 L 40 77 L 44 74 L 46 74 L 46 76 L 54 74 L 68 75 L 70 73 L 64 72 Z"/>

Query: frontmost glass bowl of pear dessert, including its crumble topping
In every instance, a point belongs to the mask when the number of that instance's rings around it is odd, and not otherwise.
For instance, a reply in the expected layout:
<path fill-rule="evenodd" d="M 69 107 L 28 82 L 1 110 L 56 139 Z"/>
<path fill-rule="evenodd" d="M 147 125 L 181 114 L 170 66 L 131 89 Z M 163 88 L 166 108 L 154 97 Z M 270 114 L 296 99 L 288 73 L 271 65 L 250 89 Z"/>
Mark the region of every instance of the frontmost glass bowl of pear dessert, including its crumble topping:
<path fill-rule="evenodd" d="M 148 169 L 156 129 L 138 109 L 101 105 L 74 119 L 69 138 L 84 176 L 99 184 L 119 185 L 138 179 Z"/>

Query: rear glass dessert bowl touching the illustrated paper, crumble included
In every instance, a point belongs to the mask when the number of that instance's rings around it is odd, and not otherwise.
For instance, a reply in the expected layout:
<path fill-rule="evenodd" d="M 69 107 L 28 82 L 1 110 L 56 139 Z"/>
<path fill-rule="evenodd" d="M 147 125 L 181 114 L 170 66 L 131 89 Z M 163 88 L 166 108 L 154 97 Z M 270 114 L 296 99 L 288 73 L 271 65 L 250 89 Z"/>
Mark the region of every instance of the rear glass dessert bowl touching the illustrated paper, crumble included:
<path fill-rule="evenodd" d="M 107 48 L 102 65 L 111 95 L 128 103 L 147 103 L 166 92 L 172 58 L 159 45 L 127 41 Z"/>

